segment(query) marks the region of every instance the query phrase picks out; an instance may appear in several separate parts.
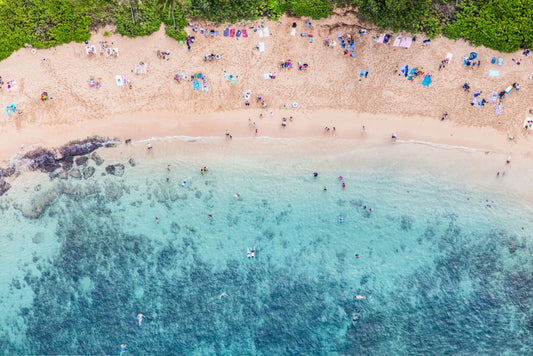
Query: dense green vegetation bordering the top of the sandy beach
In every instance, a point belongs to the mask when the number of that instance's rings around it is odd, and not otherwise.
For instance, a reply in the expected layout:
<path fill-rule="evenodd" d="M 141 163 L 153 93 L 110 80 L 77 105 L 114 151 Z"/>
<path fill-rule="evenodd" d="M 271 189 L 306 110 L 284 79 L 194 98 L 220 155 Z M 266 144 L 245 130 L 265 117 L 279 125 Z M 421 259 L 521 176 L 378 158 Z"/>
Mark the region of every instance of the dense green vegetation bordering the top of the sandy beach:
<path fill-rule="evenodd" d="M 334 8 L 393 31 L 465 38 L 503 52 L 533 47 L 533 0 L 0 0 L 0 60 L 25 44 L 82 42 L 105 25 L 135 37 L 164 23 L 168 36 L 183 40 L 189 18 L 224 23 L 287 12 L 319 19 Z"/>

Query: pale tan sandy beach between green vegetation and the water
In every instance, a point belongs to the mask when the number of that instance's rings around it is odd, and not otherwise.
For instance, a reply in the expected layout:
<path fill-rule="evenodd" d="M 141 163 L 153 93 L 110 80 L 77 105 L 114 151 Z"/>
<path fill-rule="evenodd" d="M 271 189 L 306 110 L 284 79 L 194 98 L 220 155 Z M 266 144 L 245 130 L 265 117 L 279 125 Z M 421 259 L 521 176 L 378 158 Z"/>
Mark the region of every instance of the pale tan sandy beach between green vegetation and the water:
<path fill-rule="evenodd" d="M 297 24 L 295 36 L 291 36 L 293 22 Z M 261 23 L 269 28 L 270 36 L 261 38 L 254 32 Z M 326 136 L 362 143 L 390 142 L 395 133 L 402 140 L 530 154 L 531 138 L 523 123 L 531 109 L 531 57 L 445 38 L 424 45 L 421 35 L 409 49 L 392 46 L 392 41 L 376 43 L 374 37 L 383 31 L 367 28 L 367 34 L 359 35 L 364 25 L 351 13 L 313 21 L 310 27 L 302 19 L 289 17 L 233 26 L 247 29 L 248 38 L 224 37 L 225 27 L 218 27 L 220 35 L 214 37 L 188 28 L 196 38 L 190 51 L 166 37 L 163 28 L 137 39 L 104 36 L 101 30 L 89 42 L 97 49 L 95 55 L 87 55 L 85 43 L 17 51 L 0 63 L 4 82 L 15 80 L 18 86 L 7 92 L 4 85 L 0 105 L 16 103 L 22 112 L 4 116 L 0 159 L 6 162 L 20 153 L 21 144 L 27 151 L 93 135 L 138 141 L 162 136 L 222 137 L 226 130 L 234 137 Z M 301 33 L 313 34 L 313 43 Z M 339 43 L 324 45 L 325 39 L 336 40 L 338 33 L 357 40 L 355 58 L 344 55 Z M 103 41 L 117 48 L 119 55 L 99 54 Z M 260 42 L 265 52 L 257 50 Z M 158 58 L 158 50 L 170 55 Z M 479 67 L 462 65 L 462 56 L 470 52 L 478 54 Z M 204 56 L 211 53 L 220 59 L 205 61 Z M 453 59 L 439 70 L 447 53 Z M 503 58 L 503 65 L 490 64 L 492 57 Z M 279 68 L 289 59 L 295 67 L 298 62 L 309 67 L 306 71 Z M 134 73 L 139 62 L 146 64 L 146 74 Z M 399 76 L 404 64 L 422 67 L 432 76 L 431 85 L 421 85 L 420 76 L 412 82 Z M 368 77 L 360 77 L 362 69 L 368 69 Z M 499 70 L 499 77 L 489 77 L 489 69 Z M 235 83 L 225 80 L 225 72 L 236 77 Z M 186 79 L 175 81 L 176 73 L 185 74 Z M 206 77 L 208 92 L 193 89 L 190 77 L 195 73 Z M 265 79 L 266 73 L 276 78 Z M 117 86 L 117 75 L 126 76 L 131 88 Z M 91 87 L 91 78 L 101 87 Z M 465 82 L 470 84 L 469 93 L 462 89 Z M 501 115 L 495 114 L 494 103 L 481 109 L 470 105 L 473 92 L 481 91 L 480 97 L 489 101 L 492 91 L 500 92 L 514 82 L 520 90 L 506 95 Z M 251 92 L 249 106 L 243 98 L 247 91 Z M 42 101 L 42 92 L 50 99 Z M 257 97 L 265 101 L 266 108 Z M 298 107 L 293 108 L 293 103 Z M 442 122 L 444 112 L 448 117 Z M 286 127 L 281 125 L 284 117 Z"/>

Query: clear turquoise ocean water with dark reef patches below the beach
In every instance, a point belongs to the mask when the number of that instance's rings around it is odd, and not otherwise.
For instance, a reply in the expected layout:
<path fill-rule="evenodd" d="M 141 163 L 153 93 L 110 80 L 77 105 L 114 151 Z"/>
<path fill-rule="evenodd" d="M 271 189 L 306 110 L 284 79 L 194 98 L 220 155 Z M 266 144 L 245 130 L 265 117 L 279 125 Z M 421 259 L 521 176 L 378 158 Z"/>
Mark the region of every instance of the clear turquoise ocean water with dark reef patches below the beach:
<path fill-rule="evenodd" d="M 100 150 L 88 180 L 21 179 L 0 353 L 533 351 L 533 211 L 512 169 L 489 176 L 504 157 L 309 141 L 154 140 Z"/>

